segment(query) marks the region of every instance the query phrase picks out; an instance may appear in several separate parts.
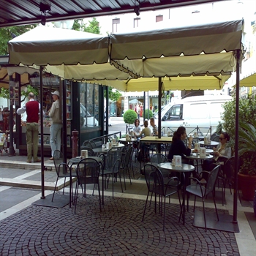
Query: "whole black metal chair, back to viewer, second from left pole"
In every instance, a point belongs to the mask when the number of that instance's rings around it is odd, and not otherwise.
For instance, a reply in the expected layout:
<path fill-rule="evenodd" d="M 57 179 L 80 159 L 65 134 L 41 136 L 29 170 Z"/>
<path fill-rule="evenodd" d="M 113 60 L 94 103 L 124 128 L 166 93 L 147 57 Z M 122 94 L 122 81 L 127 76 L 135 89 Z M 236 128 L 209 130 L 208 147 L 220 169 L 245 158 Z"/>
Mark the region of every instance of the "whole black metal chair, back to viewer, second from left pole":
<path fill-rule="evenodd" d="M 102 211 L 100 190 L 99 190 L 99 173 L 102 171 L 102 165 L 93 158 L 83 158 L 76 167 L 77 181 L 75 184 L 75 211 L 78 201 L 78 189 L 82 188 L 83 197 L 86 197 L 86 185 L 94 184 L 98 188 L 99 192 L 99 209 Z M 94 190 L 93 188 L 93 190 Z"/>

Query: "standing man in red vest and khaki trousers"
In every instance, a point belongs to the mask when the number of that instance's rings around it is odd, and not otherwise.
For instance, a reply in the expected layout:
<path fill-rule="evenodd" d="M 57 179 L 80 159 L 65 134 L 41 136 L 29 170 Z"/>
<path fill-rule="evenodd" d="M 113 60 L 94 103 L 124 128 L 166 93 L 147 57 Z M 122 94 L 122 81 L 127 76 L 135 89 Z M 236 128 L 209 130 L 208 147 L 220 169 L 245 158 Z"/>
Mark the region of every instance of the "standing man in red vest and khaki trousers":
<path fill-rule="evenodd" d="M 26 144 L 28 151 L 28 158 L 26 162 L 31 162 L 32 160 L 32 145 L 33 145 L 33 158 L 34 162 L 41 162 L 41 159 L 37 158 L 38 151 L 38 120 L 40 104 L 34 100 L 34 94 L 29 93 L 29 102 L 26 102 L 22 108 L 18 108 L 17 113 L 21 115 L 26 112 Z"/>

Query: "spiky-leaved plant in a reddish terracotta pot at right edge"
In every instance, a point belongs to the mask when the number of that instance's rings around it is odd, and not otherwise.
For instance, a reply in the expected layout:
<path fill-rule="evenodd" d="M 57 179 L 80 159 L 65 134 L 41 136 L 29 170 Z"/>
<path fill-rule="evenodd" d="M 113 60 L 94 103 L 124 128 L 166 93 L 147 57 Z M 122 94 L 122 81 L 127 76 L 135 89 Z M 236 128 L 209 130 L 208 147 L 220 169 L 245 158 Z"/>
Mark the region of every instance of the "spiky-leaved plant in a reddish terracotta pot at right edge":
<path fill-rule="evenodd" d="M 238 181 L 244 199 L 253 200 L 256 189 L 256 120 L 239 123 Z"/>

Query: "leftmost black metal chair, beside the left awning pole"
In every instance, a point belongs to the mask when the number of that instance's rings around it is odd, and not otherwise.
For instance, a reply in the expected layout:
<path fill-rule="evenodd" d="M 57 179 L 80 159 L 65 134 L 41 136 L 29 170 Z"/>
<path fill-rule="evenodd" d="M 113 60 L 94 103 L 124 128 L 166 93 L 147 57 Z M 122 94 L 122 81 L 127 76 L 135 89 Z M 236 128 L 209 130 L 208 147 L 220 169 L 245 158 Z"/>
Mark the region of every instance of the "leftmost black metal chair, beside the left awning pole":
<path fill-rule="evenodd" d="M 65 162 L 63 162 L 63 154 L 61 151 L 59 150 L 55 150 L 53 152 L 53 162 L 54 162 L 54 167 L 56 170 L 56 174 L 57 174 L 57 179 L 56 179 L 56 183 L 55 183 L 55 187 L 54 187 L 54 191 L 53 191 L 53 197 L 52 197 L 52 202 L 53 202 L 53 198 L 56 192 L 56 187 L 59 181 L 59 178 L 64 178 L 64 186 L 63 186 L 63 192 L 62 195 L 64 194 L 64 189 L 66 187 L 66 178 L 72 178 L 75 177 L 75 172 L 72 173 L 71 168 L 69 167 L 69 165 Z M 72 181 L 70 181 L 69 186 L 72 187 Z M 72 191 L 72 189 L 71 189 Z M 69 202 L 70 205 L 70 202 Z"/>

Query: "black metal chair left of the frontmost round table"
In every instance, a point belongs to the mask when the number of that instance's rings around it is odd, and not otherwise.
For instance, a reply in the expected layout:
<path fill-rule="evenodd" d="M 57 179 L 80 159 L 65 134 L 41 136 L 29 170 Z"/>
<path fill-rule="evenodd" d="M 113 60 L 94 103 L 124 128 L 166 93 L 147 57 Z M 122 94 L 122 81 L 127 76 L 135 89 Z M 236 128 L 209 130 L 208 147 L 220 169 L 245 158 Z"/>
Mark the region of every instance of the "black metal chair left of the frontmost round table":
<path fill-rule="evenodd" d="M 162 214 L 164 215 L 163 230 L 165 231 L 165 199 L 170 195 L 178 193 L 178 187 L 179 187 L 178 178 L 177 177 L 170 178 L 169 182 L 165 184 L 161 170 L 159 170 L 156 166 L 151 164 L 146 164 L 144 166 L 144 173 L 145 173 L 146 184 L 148 187 L 148 195 L 147 195 L 146 203 L 144 206 L 142 221 L 144 220 L 144 216 L 146 213 L 146 206 L 148 203 L 149 193 L 154 193 L 155 195 L 155 208 L 154 208 L 155 213 L 157 212 L 157 195 L 159 195 L 159 212 L 161 215 Z M 162 202 L 162 197 L 164 197 L 164 202 Z M 152 200 L 152 197 L 150 199 L 150 203 L 151 203 L 151 200 Z M 181 200 L 180 200 L 179 193 L 178 193 L 178 200 L 181 207 Z M 162 203 L 164 203 L 163 209 L 162 209 Z"/>

